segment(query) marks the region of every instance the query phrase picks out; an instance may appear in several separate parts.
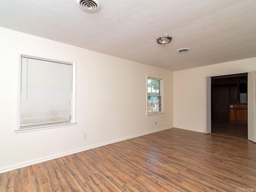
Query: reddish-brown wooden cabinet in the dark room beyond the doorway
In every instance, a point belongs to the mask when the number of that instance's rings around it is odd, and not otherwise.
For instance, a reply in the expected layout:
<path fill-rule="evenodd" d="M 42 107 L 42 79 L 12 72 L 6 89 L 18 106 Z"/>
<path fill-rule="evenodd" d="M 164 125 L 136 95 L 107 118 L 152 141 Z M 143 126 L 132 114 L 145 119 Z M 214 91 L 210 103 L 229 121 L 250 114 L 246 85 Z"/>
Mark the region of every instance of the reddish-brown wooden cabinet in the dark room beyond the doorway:
<path fill-rule="evenodd" d="M 229 121 L 247 123 L 247 104 L 230 104 Z"/>

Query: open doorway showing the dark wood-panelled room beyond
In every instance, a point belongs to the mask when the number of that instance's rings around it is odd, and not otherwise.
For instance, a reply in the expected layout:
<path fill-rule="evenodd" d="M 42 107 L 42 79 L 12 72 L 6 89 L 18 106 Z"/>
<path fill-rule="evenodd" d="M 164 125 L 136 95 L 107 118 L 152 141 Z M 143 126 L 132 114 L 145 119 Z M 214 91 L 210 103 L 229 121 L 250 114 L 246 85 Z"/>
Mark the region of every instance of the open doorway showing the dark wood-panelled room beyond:
<path fill-rule="evenodd" d="M 247 73 L 212 77 L 211 122 L 213 134 L 248 138 Z"/>

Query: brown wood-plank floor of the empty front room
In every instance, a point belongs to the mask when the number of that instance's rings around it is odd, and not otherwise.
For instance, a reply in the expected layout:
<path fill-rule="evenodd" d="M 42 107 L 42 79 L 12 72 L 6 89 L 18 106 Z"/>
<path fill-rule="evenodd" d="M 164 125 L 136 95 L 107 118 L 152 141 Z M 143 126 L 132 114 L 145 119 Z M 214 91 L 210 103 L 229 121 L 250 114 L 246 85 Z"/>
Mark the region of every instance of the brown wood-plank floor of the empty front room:
<path fill-rule="evenodd" d="M 178 128 L 0 174 L 1 192 L 256 191 L 256 144 Z"/>

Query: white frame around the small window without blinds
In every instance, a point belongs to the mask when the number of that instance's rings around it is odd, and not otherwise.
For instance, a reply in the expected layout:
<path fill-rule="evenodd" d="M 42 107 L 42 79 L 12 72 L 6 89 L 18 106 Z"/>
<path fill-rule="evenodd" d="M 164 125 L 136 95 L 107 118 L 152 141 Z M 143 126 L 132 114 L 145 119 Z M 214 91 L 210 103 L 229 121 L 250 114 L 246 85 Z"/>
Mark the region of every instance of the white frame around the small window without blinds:
<path fill-rule="evenodd" d="M 161 111 L 159 112 L 148 112 L 148 78 L 160 80 L 160 93 L 158 96 L 161 96 Z M 164 114 L 164 78 L 157 77 L 154 75 L 147 75 L 146 78 L 146 115 L 154 116 Z"/>

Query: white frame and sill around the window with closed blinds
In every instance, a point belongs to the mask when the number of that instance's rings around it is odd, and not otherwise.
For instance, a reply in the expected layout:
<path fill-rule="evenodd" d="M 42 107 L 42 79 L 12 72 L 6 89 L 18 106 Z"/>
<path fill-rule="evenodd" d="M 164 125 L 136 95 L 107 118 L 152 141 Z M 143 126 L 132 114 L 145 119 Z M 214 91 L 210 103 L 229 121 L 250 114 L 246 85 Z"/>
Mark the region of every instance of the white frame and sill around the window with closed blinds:
<path fill-rule="evenodd" d="M 36 127 L 29 127 L 29 128 L 20 128 L 20 105 L 21 105 L 21 83 L 22 83 L 22 55 L 28 55 L 31 57 L 42 58 L 45 60 L 56 60 L 59 62 L 66 62 L 72 63 L 72 103 L 71 103 L 71 120 L 68 123 L 60 123 L 60 124 L 52 124 L 52 125 L 42 125 Z M 30 52 L 22 52 L 17 51 L 17 65 L 16 65 L 16 123 L 14 131 L 16 133 L 20 132 L 30 132 L 36 130 L 45 130 L 45 129 L 52 129 L 52 128 L 60 128 L 60 127 L 67 127 L 67 126 L 74 126 L 76 125 L 76 61 L 56 58 L 52 56 L 45 56 L 40 54 L 34 54 Z"/>

